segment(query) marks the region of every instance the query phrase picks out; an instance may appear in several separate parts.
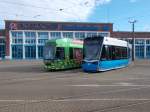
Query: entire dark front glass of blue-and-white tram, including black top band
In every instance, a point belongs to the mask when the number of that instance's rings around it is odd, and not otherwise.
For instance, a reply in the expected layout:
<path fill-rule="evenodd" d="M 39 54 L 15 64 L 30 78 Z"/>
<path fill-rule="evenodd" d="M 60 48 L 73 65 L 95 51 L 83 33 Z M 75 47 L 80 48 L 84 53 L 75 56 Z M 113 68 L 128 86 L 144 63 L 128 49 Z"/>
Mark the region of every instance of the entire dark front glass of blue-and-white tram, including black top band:
<path fill-rule="evenodd" d="M 103 39 L 84 41 L 84 60 L 99 60 Z"/>

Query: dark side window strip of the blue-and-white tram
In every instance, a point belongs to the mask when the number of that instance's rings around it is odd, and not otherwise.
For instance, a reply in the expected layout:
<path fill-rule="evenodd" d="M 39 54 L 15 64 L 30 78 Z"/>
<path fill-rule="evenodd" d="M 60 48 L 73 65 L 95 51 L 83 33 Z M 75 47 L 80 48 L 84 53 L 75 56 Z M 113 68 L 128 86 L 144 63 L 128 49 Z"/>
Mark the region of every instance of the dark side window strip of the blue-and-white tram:
<path fill-rule="evenodd" d="M 127 48 L 119 46 L 103 46 L 101 60 L 127 59 Z"/>

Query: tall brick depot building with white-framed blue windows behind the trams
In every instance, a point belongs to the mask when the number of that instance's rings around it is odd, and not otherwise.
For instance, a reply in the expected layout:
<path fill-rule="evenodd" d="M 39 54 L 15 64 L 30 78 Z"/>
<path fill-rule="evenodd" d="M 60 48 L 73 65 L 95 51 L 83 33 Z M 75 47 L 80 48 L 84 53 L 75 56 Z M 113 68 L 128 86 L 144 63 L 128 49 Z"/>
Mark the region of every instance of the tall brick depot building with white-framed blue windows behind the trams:
<path fill-rule="evenodd" d="M 84 39 L 88 36 L 110 36 L 112 23 L 5 21 L 0 56 L 5 59 L 42 59 L 47 40 Z M 5 46 L 5 47 L 4 47 Z"/>

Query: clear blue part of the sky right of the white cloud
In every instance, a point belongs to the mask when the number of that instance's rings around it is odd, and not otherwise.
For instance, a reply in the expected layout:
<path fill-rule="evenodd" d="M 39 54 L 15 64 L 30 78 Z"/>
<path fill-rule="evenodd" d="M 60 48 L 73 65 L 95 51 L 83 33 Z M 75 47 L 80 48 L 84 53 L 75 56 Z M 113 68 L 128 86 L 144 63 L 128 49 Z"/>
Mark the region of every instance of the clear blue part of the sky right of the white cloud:
<path fill-rule="evenodd" d="M 114 30 L 130 31 L 129 20 L 136 19 L 135 30 L 150 31 L 150 0 L 112 0 L 96 7 L 90 21 L 112 22 Z"/>

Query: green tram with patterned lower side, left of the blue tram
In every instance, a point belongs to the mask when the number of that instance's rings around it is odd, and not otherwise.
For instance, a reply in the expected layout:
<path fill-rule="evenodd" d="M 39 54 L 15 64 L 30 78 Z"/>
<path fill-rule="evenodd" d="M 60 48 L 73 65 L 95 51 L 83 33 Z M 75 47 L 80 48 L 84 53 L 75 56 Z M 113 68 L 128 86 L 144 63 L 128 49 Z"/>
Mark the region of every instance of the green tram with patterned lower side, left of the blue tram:
<path fill-rule="evenodd" d="M 44 47 L 44 65 L 48 71 L 81 67 L 83 41 L 62 38 L 48 40 Z"/>

